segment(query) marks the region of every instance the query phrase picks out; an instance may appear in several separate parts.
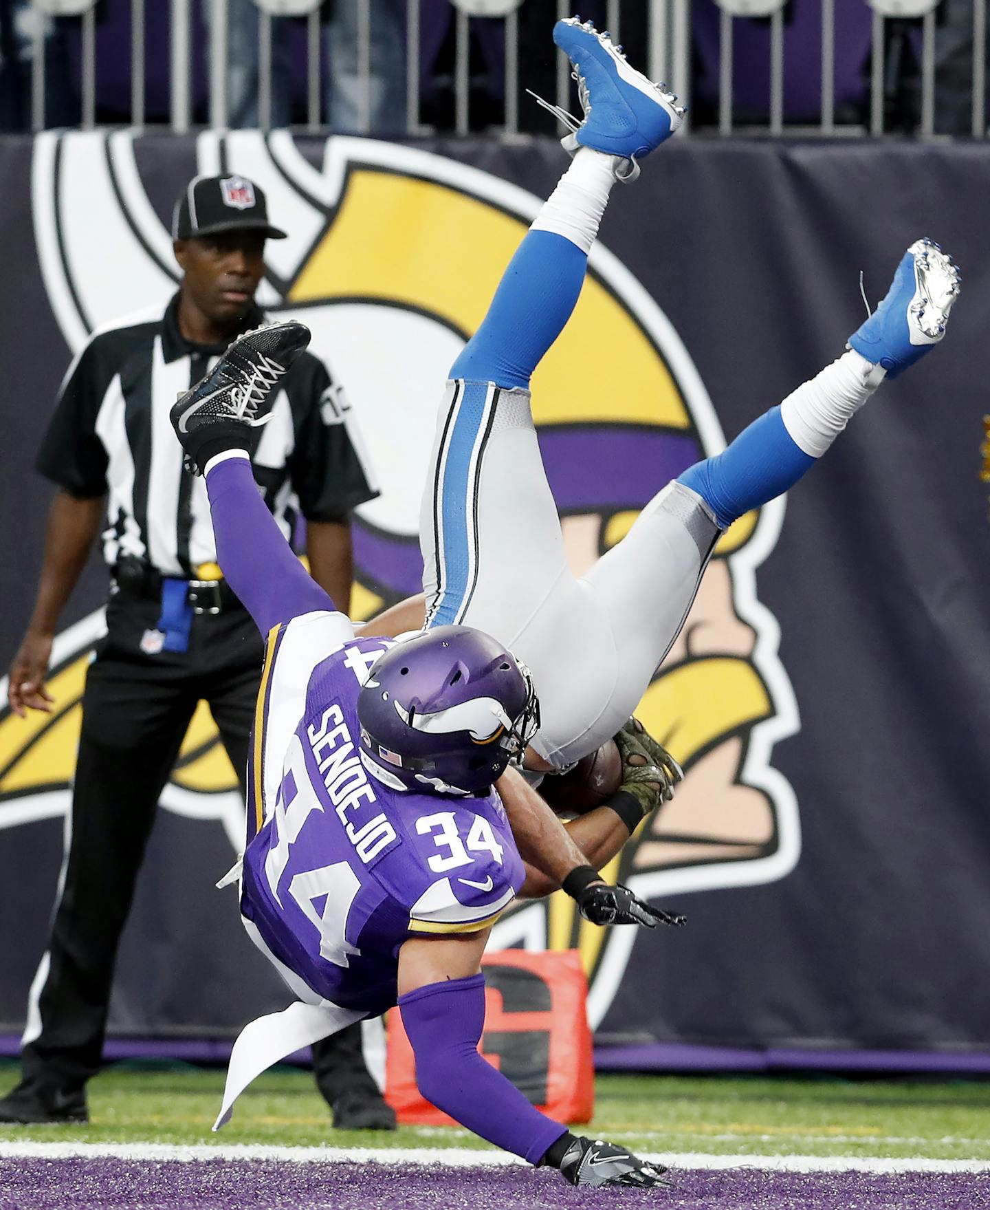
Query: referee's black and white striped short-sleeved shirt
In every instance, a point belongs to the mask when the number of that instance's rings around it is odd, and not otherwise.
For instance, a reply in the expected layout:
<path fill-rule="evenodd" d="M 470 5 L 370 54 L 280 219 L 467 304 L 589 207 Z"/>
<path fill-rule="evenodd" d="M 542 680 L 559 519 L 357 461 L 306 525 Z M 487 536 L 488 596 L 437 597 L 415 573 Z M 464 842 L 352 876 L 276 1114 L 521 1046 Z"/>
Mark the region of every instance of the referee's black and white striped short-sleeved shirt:
<path fill-rule="evenodd" d="M 248 315 L 244 330 L 262 319 Z M 164 315 L 100 328 L 69 367 L 36 467 L 70 495 L 106 494 L 103 552 L 111 566 L 131 557 L 193 577 L 215 563 L 205 484 L 183 469 L 168 413 L 221 352 L 181 335 L 176 295 Z M 296 509 L 308 520 L 340 520 L 377 495 L 343 391 L 312 352 L 285 375 L 254 465 L 286 537 Z"/>

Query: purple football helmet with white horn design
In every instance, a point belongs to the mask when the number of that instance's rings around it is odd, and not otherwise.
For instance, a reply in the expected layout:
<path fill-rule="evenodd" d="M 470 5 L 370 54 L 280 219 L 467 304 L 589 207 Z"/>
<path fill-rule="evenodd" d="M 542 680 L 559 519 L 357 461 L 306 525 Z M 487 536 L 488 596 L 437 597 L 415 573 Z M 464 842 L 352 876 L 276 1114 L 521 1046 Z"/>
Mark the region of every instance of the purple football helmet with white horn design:
<path fill-rule="evenodd" d="M 358 697 L 361 756 L 393 789 L 487 794 L 539 727 L 529 670 L 468 626 L 438 626 L 371 668 Z"/>

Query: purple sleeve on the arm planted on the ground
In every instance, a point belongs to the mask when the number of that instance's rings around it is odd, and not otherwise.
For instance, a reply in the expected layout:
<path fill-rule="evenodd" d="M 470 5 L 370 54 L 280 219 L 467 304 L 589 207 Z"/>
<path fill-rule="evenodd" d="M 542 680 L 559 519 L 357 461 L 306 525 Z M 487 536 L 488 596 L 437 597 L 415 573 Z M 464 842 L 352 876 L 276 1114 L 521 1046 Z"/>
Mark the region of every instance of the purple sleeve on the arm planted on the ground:
<path fill-rule="evenodd" d="M 438 1110 L 531 1164 L 567 1133 L 477 1053 L 485 975 L 417 987 L 399 997 L 399 1009 L 416 1054 L 416 1083 Z"/>

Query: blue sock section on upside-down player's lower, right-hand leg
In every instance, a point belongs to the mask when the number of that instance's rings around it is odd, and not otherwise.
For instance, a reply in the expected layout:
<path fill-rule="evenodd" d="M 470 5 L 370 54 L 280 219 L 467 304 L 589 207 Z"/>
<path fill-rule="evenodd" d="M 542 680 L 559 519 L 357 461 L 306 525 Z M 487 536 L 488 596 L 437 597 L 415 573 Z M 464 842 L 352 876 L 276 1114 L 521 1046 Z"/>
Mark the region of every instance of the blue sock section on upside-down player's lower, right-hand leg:
<path fill-rule="evenodd" d="M 716 514 L 722 529 L 793 488 L 817 461 L 795 444 L 780 407 L 771 408 L 720 454 L 678 476 Z"/>

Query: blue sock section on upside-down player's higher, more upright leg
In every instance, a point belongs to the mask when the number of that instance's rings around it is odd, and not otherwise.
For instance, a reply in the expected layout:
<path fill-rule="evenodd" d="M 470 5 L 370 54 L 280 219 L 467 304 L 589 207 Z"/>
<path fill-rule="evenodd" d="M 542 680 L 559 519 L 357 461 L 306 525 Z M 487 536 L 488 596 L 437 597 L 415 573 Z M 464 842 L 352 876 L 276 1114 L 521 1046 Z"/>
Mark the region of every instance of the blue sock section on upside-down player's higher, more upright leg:
<path fill-rule="evenodd" d="M 529 231 L 502 275 L 492 305 L 451 368 L 452 379 L 528 387 L 563 332 L 584 284 L 587 257 L 552 231 Z"/>

